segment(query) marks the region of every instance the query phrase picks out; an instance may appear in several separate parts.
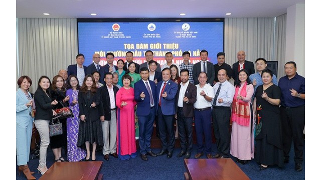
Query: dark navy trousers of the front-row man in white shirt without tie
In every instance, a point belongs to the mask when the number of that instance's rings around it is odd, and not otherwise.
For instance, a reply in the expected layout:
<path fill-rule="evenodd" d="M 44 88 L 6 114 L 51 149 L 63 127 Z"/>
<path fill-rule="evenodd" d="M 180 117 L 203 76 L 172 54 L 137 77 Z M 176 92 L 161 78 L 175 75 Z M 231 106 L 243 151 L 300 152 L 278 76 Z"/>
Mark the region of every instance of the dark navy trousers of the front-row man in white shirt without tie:
<path fill-rule="evenodd" d="M 212 110 L 194 110 L 197 153 L 212 153 Z M 205 146 L 203 143 L 205 139 Z"/>

